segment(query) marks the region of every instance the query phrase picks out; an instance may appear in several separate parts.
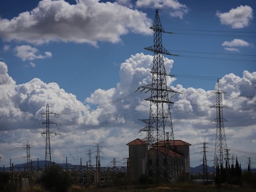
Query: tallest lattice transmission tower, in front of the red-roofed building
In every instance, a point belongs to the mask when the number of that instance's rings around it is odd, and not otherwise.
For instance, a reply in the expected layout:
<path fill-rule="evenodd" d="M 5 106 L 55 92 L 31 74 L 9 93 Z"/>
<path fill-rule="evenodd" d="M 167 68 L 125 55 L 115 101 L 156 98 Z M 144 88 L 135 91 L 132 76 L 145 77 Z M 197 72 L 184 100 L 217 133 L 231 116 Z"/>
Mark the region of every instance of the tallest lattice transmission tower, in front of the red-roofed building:
<path fill-rule="evenodd" d="M 177 55 L 171 54 L 162 45 L 162 33 L 170 32 L 164 31 L 158 10 L 155 12 L 155 20 L 150 29 L 154 32 L 154 45 L 145 49 L 154 52 L 153 67 L 151 69 L 151 84 L 140 86 L 137 90 L 140 90 L 140 92 L 145 91 L 145 93 L 150 92 L 150 97 L 145 99 L 150 101 L 149 119 L 140 119 L 142 122 L 146 123 L 146 127 L 140 131 L 146 131 L 147 133 L 145 141 L 148 143 L 148 149 L 151 149 L 156 145 L 157 165 L 154 172 L 156 172 L 157 177 L 160 178 L 162 175 L 159 175 L 158 171 L 161 166 L 160 162 L 158 162 L 160 157 L 160 152 L 158 152 L 158 142 L 164 141 L 164 146 L 166 146 L 164 147 L 164 150 L 167 150 L 167 141 L 173 141 L 174 143 L 173 123 L 170 110 L 170 104 L 173 102 L 170 101 L 170 98 L 177 93 L 173 89 L 169 88 L 166 83 L 166 77 L 168 77 L 169 74 L 166 73 L 164 67 L 163 54 L 172 56 Z M 170 94 L 172 95 L 170 96 Z M 165 154 L 167 154 L 167 152 L 165 152 Z M 168 175 L 167 162 L 164 169 L 164 177 L 166 178 L 166 175 Z"/>

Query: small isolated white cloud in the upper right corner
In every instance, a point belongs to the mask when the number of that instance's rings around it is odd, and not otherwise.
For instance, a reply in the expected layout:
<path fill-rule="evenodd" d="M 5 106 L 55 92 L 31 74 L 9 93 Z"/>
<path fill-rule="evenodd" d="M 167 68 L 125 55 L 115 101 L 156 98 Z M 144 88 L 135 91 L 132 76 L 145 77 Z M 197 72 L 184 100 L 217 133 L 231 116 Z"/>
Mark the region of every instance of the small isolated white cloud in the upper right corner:
<path fill-rule="evenodd" d="M 254 18 L 253 9 L 250 6 L 239 6 L 229 12 L 217 12 L 216 16 L 220 18 L 223 25 L 230 25 L 232 28 L 247 27 Z"/>

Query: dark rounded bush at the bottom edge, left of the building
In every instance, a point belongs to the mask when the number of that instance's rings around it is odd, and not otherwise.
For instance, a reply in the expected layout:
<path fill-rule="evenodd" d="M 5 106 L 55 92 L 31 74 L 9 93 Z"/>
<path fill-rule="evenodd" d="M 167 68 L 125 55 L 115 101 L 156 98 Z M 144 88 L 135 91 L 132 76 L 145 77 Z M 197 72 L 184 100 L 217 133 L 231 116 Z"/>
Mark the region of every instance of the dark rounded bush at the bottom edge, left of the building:
<path fill-rule="evenodd" d="M 60 167 L 53 165 L 45 170 L 39 183 L 48 191 L 66 192 L 72 185 L 72 180 L 69 173 L 62 172 Z"/>

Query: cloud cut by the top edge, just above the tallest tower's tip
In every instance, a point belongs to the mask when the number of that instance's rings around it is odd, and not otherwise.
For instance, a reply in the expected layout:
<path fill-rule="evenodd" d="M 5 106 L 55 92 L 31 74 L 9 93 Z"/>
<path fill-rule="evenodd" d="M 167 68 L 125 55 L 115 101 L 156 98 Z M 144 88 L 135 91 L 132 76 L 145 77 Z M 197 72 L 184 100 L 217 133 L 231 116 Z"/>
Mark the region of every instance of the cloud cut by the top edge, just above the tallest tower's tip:
<path fill-rule="evenodd" d="M 136 2 L 136 7 L 145 7 L 145 8 L 155 8 L 155 9 L 172 9 L 170 15 L 172 17 L 179 17 L 182 19 L 185 14 L 187 14 L 187 6 L 181 4 L 177 0 L 138 0 Z"/>

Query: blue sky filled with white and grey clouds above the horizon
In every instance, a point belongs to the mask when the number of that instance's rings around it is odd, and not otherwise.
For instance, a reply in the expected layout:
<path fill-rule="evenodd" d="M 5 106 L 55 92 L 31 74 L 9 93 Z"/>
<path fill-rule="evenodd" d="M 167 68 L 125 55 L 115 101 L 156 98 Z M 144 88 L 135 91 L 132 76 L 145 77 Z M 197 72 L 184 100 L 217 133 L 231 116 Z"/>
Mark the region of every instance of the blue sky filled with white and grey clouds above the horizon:
<path fill-rule="evenodd" d="M 159 10 L 174 139 L 190 143 L 190 165 L 213 165 L 215 94 L 225 91 L 223 117 L 231 157 L 256 167 L 256 22 L 245 1 L 2 1 L 0 4 L 0 166 L 45 160 L 45 117 L 51 115 L 52 161 L 85 165 L 100 143 L 101 165 L 125 166 L 126 145 L 143 138 L 151 82 L 150 30 Z"/>

